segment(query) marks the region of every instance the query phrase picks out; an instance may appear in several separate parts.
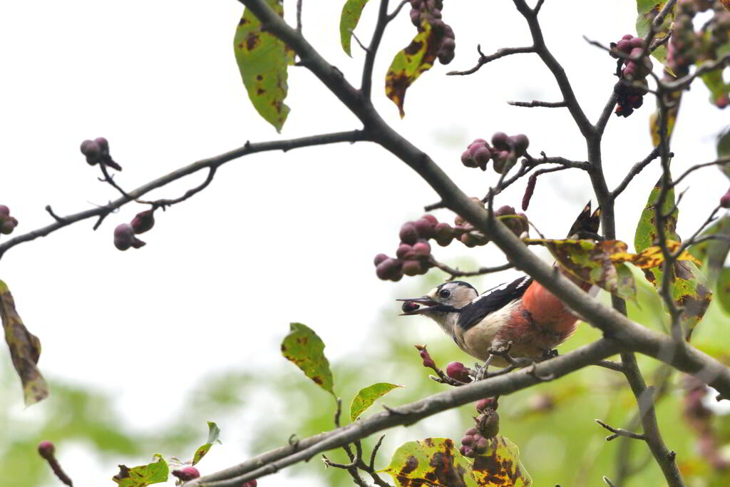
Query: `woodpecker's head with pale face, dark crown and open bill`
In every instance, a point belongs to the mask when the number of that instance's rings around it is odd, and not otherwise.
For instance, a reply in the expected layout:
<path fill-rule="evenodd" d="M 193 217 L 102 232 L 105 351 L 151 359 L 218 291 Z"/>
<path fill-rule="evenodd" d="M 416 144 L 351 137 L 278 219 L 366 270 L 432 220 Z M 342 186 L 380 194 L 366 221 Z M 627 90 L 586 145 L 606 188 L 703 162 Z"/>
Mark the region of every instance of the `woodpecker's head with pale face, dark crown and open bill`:
<path fill-rule="evenodd" d="M 458 313 L 479 294 L 469 283 L 453 280 L 431 289 L 429 294 L 420 298 L 404 298 L 401 316 L 426 315 L 442 327 L 456 321 Z M 411 304 L 413 303 L 413 304 Z M 418 307 L 415 307 L 418 304 Z"/>

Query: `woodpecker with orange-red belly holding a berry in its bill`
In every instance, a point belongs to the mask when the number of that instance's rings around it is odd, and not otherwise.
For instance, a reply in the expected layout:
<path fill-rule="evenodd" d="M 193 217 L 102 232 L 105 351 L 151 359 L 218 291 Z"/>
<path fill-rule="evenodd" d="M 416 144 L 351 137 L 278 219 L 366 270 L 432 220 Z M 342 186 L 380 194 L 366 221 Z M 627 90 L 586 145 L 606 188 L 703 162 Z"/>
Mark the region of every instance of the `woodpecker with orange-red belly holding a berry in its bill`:
<path fill-rule="evenodd" d="M 591 215 L 591 205 L 583 208 L 571 227 L 569 236 L 596 234 L 600 209 Z M 584 283 L 562 271 L 573 282 L 591 290 Z M 597 288 L 594 290 L 597 292 Z M 593 294 L 593 293 L 591 293 Z M 523 275 L 479 294 L 462 280 L 452 280 L 418 298 L 398 299 L 404 302 L 401 315 L 425 315 L 434 320 L 456 345 L 470 356 L 497 367 L 507 367 L 510 358 L 539 360 L 553 353 L 573 331 L 579 318 L 557 296 L 537 280 Z"/>

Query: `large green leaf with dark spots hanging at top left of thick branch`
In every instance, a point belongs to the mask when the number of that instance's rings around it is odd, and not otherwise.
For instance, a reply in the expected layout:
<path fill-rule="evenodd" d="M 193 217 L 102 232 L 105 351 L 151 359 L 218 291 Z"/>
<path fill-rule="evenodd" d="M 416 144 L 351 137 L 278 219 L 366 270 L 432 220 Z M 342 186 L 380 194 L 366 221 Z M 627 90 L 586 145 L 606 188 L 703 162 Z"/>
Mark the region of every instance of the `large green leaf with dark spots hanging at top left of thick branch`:
<path fill-rule="evenodd" d="M 266 3 L 283 17 L 281 0 L 266 0 Z M 289 113 L 284 99 L 288 91 L 287 66 L 293 63 L 292 51 L 262 29 L 261 21 L 245 9 L 236 28 L 234 52 L 253 107 L 280 132 Z"/>

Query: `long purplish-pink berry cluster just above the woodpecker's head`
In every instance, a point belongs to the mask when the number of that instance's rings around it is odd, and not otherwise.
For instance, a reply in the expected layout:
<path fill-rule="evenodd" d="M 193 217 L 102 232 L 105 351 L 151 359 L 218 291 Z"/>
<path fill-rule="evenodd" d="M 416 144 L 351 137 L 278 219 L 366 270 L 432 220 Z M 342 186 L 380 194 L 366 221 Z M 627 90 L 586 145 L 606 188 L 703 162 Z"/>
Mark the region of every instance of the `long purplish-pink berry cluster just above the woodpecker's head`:
<path fill-rule="evenodd" d="M 483 202 L 474 198 L 478 204 Z M 518 237 L 525 234 L 529 225 L 527 216 L 524 213 L 516 213 L 510 206 L 503 206 L 494 212 L 494 215 L 507 225 Z M 457 216 L 454 220 L 455 226 L 439 222 L 434 215 L 423 215 L 419 220 L 409 221 L 401 226 L 399 237 L 401 239 L 396 257 L 388 257 L 384 253 L 375 256 L 375 274 L 382 280 L 399 281 L 403 275 L 423 275 L 436 265 L 431 256 L 431 245 L 429 239 L 446 247 L 454 239 L 458 239 L 466 247 L 472 248 L 477 245 L 486 245 L 489 239 L 469 223 Z M 415 306 L 415 307 L 414 307 Z M 404 303 L 404 312 L 418 309 L 415 303 Z"/>

